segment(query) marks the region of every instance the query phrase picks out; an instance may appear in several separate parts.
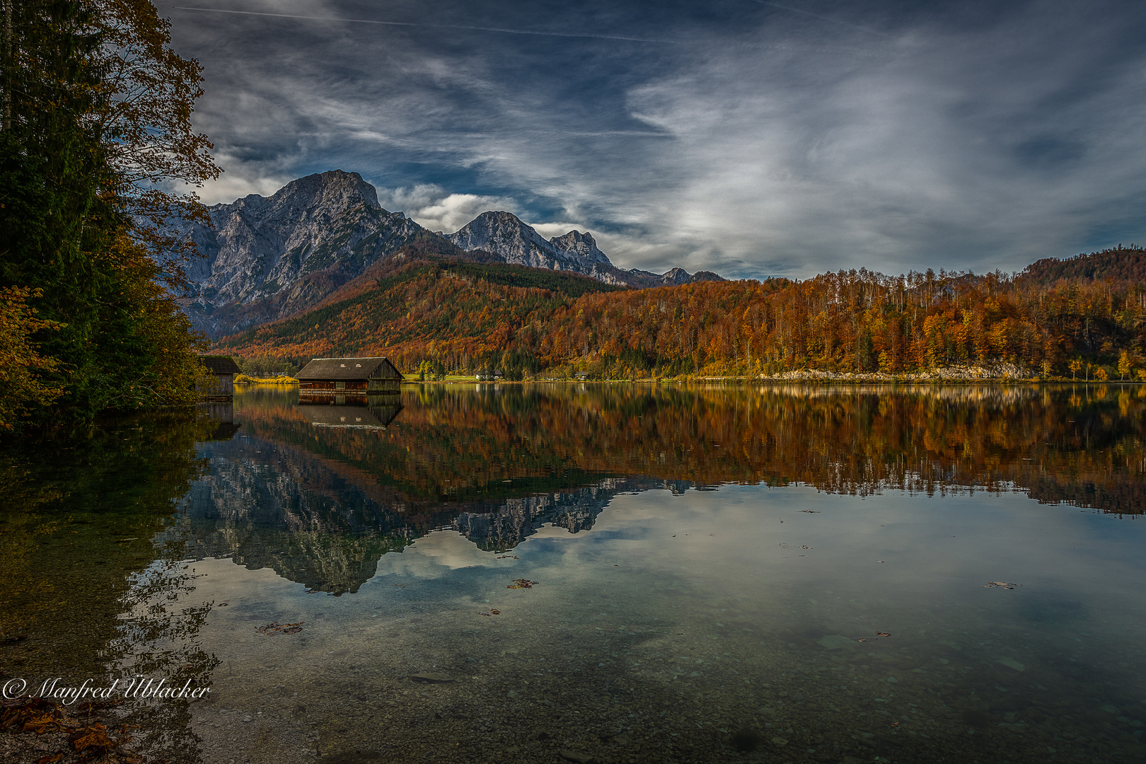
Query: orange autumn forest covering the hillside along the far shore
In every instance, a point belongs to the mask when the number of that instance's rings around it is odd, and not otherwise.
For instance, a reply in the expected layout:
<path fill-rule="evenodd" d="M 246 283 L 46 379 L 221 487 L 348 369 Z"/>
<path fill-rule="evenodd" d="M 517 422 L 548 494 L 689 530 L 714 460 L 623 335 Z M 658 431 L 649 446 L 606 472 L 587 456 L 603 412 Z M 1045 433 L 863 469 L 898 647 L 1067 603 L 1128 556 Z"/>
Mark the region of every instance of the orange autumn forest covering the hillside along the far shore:
<path fill-rule="evenodd" d="M 482 268 L 413 259 L 351 299 L 218 347 L 297 361 L 387 355 L 406 370 L 500 367 L 510 378 L 901 375 L 1007 362 L 1031 376 L 1102 379 L 1135 378 L 1146 339 L 1140 281 L 861 269 L 576 296 L 499 283 Z"/>

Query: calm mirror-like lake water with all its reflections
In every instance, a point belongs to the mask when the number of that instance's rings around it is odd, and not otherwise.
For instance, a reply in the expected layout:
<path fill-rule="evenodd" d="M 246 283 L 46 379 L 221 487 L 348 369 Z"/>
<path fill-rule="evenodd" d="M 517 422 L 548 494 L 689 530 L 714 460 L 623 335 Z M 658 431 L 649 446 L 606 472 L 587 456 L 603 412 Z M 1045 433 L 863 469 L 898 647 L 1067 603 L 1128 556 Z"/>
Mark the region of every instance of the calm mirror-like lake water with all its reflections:
<path fill-rule="evenodd" d="M 1143 762 L 1146 388 L 437 385 L 0 452 L 0 672 L 172 762 Z"/>

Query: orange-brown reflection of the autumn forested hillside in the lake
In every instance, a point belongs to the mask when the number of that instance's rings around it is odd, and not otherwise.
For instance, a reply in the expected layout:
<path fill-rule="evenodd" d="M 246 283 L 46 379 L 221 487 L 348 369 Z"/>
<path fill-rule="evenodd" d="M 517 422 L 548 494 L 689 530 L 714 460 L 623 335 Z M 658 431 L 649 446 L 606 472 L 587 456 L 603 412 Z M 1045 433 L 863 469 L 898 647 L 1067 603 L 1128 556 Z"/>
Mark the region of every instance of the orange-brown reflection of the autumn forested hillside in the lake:
<path fill-rule="evenodd" d="M 639 476 L 861 496 L 1018 488 L 1107 512 L 1146 506 L 1141 387 L 425 386 L 369 413 L 241 401 L 248 435 L 410 503 Z"/>

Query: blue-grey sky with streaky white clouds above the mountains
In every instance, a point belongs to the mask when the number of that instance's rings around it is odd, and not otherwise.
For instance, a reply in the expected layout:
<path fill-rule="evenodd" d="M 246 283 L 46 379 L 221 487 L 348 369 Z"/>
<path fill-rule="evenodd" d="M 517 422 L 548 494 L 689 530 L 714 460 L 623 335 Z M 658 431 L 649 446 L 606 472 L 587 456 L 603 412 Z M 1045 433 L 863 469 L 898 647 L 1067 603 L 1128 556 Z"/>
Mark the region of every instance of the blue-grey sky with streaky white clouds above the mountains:
<path fill-rule="evenodd" d="M 1146 243 L 1140 0 L 156 5 L 211 203 L 340 168 L 433 230 L 508 210 L 729 277 Z"/>

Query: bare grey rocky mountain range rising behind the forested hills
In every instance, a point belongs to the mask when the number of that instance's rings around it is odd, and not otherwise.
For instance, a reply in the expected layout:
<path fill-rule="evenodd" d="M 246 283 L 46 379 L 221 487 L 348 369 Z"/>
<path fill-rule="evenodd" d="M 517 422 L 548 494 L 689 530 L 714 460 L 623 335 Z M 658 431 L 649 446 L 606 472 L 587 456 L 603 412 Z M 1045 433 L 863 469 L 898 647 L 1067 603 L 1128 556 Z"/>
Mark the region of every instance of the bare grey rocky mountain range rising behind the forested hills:
<path fill-rule="evenodd" d="M 606 284 L 661 286 L 702 281 L 674 268 L 658 275 L 621 270 L 586 231 L 545 239 L 509 212 L 485 212 L 440 236 L 378 204 L 358 173 L 333 170 L 207 210 L 214 228 L 180 223 L 203 259 L 189 276 L 185 309 L 197 329 L 220 337 L 313 308 L 379 259 L 415 242 L 438 252 L 481 251 L 507 263 L 568 270 Z M 720 279 L 715 274 L 707 277 Z"/>

